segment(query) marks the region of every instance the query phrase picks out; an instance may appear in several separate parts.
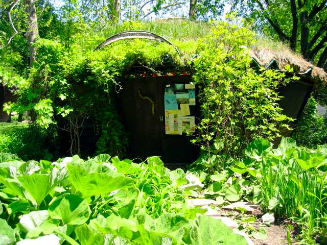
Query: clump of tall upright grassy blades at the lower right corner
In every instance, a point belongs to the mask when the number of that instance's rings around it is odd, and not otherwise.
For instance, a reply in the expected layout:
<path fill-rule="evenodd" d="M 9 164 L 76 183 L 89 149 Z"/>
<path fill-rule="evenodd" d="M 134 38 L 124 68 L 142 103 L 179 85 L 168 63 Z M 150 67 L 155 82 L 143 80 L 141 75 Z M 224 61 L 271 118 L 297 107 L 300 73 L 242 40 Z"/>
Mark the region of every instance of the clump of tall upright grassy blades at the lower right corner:
<path fill-rule="evenodd" d="M 291 146 L 272 150 L 261 160 L 258 178 L 264 208 L 299 224 L 303 241 L 326 235 L 326 148 L 316 151 Z"/>

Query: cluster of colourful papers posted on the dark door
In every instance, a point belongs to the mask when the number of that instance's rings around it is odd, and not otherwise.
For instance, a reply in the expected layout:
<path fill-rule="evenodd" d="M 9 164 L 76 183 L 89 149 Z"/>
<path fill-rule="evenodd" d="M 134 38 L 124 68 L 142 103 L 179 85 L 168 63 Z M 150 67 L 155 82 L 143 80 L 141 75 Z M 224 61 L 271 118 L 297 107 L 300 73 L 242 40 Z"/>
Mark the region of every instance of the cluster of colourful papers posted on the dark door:
<path fill-rule="evenodd" d="M 194 132 L 195 84 L 172 83 L 165 87 L 166 134 Z"/>

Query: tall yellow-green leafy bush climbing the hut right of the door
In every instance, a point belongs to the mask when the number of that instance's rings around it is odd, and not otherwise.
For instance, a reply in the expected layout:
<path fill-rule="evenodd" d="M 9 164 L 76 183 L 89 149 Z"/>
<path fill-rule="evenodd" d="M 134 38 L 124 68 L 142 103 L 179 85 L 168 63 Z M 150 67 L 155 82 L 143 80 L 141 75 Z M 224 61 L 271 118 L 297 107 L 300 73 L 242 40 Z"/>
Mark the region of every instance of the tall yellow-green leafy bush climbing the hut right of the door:
<path fill-rule="evenodd" d="M 245 27 L 220 22 L 199 44 L 193 78 L 200 87 L 201 120 L 194 142 L 217 156 L 240 156 L 252 139 L 272 141 L 289 129 L 291 118 L 282 114 L 276 92 L 289 79 L 250 67 L 253 36 Z"/>

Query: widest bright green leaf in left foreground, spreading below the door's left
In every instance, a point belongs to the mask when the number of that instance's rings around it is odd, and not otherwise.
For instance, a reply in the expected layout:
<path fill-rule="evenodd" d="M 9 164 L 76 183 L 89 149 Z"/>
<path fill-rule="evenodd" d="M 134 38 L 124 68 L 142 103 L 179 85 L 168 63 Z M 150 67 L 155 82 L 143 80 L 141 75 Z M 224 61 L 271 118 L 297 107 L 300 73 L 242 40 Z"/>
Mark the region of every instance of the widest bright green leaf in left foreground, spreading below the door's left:
<path fill-rule="evenodd" d="M 73 164 L 67 164 L 67 169 L 69 181 L 82 193 L 83 198 L 133 186 L 133 180 L 131 178 L 124 177 L 113 170 L 110 171 L 110 174 L 88 174 L 83 168 Z"/>

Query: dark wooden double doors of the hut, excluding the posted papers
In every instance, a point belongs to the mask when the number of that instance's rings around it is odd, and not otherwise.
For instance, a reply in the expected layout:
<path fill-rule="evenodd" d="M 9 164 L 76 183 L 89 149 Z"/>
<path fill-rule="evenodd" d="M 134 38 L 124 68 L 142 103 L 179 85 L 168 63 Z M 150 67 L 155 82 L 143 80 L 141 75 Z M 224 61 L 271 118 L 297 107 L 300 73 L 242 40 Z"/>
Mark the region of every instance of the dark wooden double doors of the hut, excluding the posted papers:
<path fill-rule="evenodd" d="M 190 142 L 190 137 L 166 135 L 165 132 L 165 86 L 190 81 L 191 77 L 180 76 L 134 78 L 122 82 L 119 101 L 129 134 L 129 158 L 145 160 L 149 156 L 160 156 L 165 163 L 177 164 L 196 159 L 198 149 Z"/>

